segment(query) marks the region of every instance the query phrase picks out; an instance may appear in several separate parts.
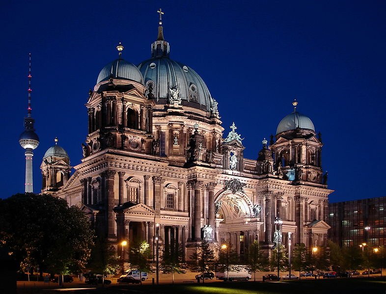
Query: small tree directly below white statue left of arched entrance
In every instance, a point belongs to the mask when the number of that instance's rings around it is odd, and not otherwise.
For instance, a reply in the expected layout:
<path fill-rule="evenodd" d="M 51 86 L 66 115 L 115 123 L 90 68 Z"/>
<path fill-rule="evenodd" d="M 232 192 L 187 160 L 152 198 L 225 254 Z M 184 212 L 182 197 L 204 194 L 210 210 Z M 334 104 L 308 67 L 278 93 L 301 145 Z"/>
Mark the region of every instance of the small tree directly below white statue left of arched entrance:
<path fill-rule="evenodd" d="M 191 255 L 191 259 L 195 261 L 190 264 L 191 269 L 201 272 L 202 276 L 204 276 L 204 272 L 214 270 L 216 267 L 215 253 L 210 247 L 210 243 L 206 240 L 203 240 L 197 247 L 197 251 Z M 204 283 L 204 279 L 202 283 Z"/>

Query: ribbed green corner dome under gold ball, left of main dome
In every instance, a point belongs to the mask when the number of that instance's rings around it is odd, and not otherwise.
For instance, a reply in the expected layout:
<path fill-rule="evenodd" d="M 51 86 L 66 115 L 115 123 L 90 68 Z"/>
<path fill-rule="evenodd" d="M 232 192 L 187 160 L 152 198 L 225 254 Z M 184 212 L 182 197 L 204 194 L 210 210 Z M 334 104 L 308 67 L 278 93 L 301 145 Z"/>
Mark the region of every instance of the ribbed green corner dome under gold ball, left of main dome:
<path fill-rule="evenodd" d="M 143 81 L 142 75 L 139 72 L 137 66 L 121 58 L 115 59 L 114 61 L 108 63 L 101 70 L 97 79 L 97 83 L 109 80 L 110 78 L 133 80 L 139 83 L 142 83 Z"/>

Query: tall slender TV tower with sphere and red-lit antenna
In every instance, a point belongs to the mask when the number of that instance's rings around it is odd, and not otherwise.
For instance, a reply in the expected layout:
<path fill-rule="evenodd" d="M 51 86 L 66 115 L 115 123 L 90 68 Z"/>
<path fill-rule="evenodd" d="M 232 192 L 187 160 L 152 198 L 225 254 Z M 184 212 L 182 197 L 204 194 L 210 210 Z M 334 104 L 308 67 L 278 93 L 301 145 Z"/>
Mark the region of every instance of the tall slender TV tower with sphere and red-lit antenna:
<path fill-rule="evenodd" d="M 33 124 L 35 120 L 31 116 L 31 53 L 29 53 L 29 72 L 28 72 L 28 114 L 24 118 L 24 132 L 20 135 L 19 143 L 26 149 L 26 183 L 25 183 L 25 192 L 33 192 L 32 184 L 32 156 L 33 149 L 39 145 L 39 137 L 35 133 Z"/>

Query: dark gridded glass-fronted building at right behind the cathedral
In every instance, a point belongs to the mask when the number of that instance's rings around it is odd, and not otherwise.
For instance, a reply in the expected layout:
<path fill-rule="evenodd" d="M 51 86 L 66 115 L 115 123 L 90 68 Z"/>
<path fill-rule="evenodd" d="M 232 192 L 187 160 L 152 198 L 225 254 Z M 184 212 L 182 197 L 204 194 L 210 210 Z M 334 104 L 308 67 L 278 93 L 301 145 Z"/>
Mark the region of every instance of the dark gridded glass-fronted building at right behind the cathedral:
<path fill-rule="evenodd" d="M 340 246 L 386 245 L 386 197 L 329 204 L 329 239 Z M 364 227 L 369 226 L 366 231 Z"/>

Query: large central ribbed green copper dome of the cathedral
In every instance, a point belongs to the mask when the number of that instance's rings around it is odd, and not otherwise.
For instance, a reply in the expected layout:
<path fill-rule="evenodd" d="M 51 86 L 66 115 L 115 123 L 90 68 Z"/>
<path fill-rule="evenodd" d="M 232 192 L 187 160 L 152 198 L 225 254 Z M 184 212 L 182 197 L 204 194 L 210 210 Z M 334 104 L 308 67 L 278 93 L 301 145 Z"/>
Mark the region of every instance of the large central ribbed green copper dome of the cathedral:
<path fill-rule="evenodd" d="M 208 87 L 191 67 L 162 56 L 141 62 L 138 69 L 146 86 L 152 83 L 152 93 L 157 104 L 168 103 L 169 88 L 178 86 L 182 105 L 210 110 L 211 95 Z"/>

